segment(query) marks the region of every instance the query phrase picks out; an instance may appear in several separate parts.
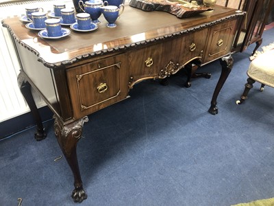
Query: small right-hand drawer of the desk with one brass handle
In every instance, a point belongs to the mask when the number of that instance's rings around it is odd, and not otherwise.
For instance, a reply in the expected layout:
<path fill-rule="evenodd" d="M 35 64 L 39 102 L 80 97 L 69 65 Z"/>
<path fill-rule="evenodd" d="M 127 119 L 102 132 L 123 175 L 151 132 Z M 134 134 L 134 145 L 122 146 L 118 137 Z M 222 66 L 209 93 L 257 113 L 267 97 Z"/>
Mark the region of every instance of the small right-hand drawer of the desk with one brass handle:
<path fill-rule="evenodd" d="M 214 25 L 210 29 L 208 47 L 203 58 L 203 62 L 210 62 L 231 51 L 235 36 L 237 20 L 225 21 Z"/>

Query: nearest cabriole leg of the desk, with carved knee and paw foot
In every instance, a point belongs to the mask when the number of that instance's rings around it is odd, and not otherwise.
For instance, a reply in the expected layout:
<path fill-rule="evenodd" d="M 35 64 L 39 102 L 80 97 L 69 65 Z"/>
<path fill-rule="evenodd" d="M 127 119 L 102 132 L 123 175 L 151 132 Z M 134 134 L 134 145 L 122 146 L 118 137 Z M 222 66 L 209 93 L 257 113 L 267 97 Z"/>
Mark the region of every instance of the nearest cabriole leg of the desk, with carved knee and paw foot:
<path fill-rule="evenodd" d="M 58 117 L 53 116 L 55 136 L 58 139 L 58 144 L 62 149 L 66 161 L 69 163 L 74 176 L 74 187 L 71 197 L 75 203 L 82 203 L 87 198 L 83 188 L 81 174 L 77 160 L 77 142 L 82 137 L 82 129 L 84 122 L 88 122 L 88 117 L 79 119 L 71 124 L 64 125 Z"/>

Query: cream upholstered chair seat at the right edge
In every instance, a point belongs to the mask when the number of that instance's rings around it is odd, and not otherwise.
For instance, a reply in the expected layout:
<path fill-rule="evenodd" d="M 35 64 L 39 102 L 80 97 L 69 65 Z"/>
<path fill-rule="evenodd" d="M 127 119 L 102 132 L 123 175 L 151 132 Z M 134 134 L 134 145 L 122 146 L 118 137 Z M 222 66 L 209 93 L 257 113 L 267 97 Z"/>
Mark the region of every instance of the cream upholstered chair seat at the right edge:
<path fill-rule="evenodd" d="M 247 75 L 269 87 L 274 87 L 274 49 L 261 54 L 249 65 Z"/>

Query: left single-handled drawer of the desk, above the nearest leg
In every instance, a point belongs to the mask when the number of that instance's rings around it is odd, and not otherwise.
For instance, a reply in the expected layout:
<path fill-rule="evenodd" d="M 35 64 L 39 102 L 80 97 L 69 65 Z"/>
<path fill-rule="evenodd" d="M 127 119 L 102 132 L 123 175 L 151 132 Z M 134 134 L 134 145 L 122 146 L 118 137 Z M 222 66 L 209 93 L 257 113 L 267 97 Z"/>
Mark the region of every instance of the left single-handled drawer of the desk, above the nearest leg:
<path fill-rule="evenodd" d="M 123 55 L 90 62 L 66 71 L 75 118 L 119 102 L 127 97 Z"/>

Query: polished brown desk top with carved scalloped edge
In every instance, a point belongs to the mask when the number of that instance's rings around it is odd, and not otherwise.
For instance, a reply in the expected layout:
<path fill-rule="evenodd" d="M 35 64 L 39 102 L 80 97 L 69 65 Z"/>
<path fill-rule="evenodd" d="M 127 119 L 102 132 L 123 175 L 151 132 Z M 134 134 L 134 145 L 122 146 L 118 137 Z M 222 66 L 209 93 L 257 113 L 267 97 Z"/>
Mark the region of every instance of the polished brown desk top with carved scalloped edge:
<path fill-rule="evenodd" d="M 106 27 L 103 15 L 101 24 L 93 32 L 75 32 L 60 39 L 42 39 L 37 31 L 29 30 L 18 17 L 5 19 L 3 26 L 9 27 L 14 38 L 23 45 L 38 52 L 40 60 L 48 67 L 58 65 L 79 56 L 98 55 L 112 52 L 113 49 L 136 46 L 138 43 L 157 41 L 171 35 L 181 35 L 195 27 L 203 27 L 207 23 L 218 23 L 229 16 L 242 15 L 234 9 L 218 5 L 214 10 L 197 14 L 187 19 L 178 19 L 167 12 L 144 12 L 125 5 L 125 11 L 116 21 L 117 27 Z M 52 65 L 53 64 L 53 65 Z"/>

